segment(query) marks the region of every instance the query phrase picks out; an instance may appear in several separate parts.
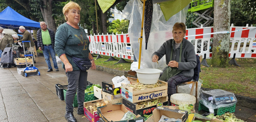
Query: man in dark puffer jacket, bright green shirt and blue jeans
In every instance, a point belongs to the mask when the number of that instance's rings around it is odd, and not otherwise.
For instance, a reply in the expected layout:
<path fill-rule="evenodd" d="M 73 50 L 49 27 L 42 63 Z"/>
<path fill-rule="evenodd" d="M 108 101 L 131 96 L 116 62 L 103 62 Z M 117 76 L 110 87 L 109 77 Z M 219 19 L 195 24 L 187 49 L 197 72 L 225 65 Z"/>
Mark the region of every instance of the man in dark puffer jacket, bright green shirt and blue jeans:
<path fill-rule="evenodd" d="M 52 62 L 55 70 L 59 71 L 59 68 L 56 62 L 56 57 L 55 57 L 56 53 L 54 51 L 55 33 L 51 29 L 47 28 L 47 25 L 44 21 L 40 22 L 40 27 L 41 29 L 37 31 L 37 41 L 38 41 L 37 46 L 38 46 L 38 49 L 40 51 L 43 51 L 44 53 L 44 59 L 48 65 L 47 72 L 52 71 L 49 52 L 51 54 Z"/>

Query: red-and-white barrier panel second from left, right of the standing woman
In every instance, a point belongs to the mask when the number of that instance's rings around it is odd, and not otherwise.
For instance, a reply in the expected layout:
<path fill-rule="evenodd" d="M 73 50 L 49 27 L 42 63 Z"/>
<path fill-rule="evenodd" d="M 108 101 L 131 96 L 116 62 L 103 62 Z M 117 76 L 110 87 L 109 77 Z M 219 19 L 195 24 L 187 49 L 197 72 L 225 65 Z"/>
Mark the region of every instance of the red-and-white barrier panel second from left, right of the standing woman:
<path fill-rule="evenodd" d="M 94 53 L 107 56 L 115 56 L 113 45 L 115 45 L 115 35 L 94 35 L 96 51 Z"/>

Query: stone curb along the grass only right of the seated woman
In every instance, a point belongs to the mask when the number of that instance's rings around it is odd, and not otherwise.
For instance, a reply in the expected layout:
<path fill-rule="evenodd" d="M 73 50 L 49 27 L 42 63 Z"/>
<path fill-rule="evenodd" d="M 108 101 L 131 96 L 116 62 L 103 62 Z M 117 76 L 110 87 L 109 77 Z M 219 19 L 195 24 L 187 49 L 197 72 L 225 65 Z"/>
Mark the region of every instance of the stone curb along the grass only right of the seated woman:
<path fill-rule="evenodd" d="M 212 89 L 203 88 L 203 87 L 201 87 L 201 89 L 204 91 L 212 90 Z M 246 96 L 237 95 L 237 94 L 235 94 L 235 96 L 237 99 L 236 105 L 256 110 L 256 106 L 255 106 L 256 98 L 246 97 Z"/>

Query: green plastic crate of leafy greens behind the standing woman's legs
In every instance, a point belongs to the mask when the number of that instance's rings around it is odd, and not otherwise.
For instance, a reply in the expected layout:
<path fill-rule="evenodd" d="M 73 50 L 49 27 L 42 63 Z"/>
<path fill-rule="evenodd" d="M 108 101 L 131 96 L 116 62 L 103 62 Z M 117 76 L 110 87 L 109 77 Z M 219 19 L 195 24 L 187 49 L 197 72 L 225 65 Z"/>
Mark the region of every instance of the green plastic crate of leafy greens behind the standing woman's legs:
<path fill-rule="evenodd" d="M 92 87 L 92 85 L 88 85 L 88 86 L 86 87 L 86 89 L 87 89 L 87 88 L 90 88 L 90 87 Z M 67 90 L 64 89 L 64 90 L 63 90 L 63 93 L 64 93 L 64 100 L 66 100 L 66 93 L 67 93 Z M 97 97 L 94 96 L 94 94 L 88 95 L 89 93 L 93 93 L 93 91 L 85 93 L 85 102 L 93 101 L 93 100 L 98 99 Z M 74 101 L 73 101 L 73 107 L 78 107 L 76 94 L 75 94 L 75 98 L 74 98 Z"/>

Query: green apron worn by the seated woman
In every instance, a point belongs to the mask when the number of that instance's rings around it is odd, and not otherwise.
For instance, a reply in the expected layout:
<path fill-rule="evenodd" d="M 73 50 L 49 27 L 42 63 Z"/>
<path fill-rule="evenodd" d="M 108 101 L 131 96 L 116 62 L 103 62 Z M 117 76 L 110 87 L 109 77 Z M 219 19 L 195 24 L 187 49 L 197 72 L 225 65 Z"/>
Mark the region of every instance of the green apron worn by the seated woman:
<path fill-rule="evenodd" d="M 172 58 L 172 50 L 173 50 L 173 48 L 171 46 L 171 58 Z M 181 62 L 181 50 L 182 50 L 182 42 L 181 42 L 181 45 L 180 45 L 180 61 L 179 62 Z M 171 61 L 171 58 L 170 58 L 170 61 Z M 177 75 L 181 71 L 182 70 L 178 70 L 177 67 L 168 66 L 166 68 L 166 70 L 164 71 L 163 75 L 159 78 L 159 80 L 162 80 L 162 81 L 166 82 L 170 77 Z"/>

